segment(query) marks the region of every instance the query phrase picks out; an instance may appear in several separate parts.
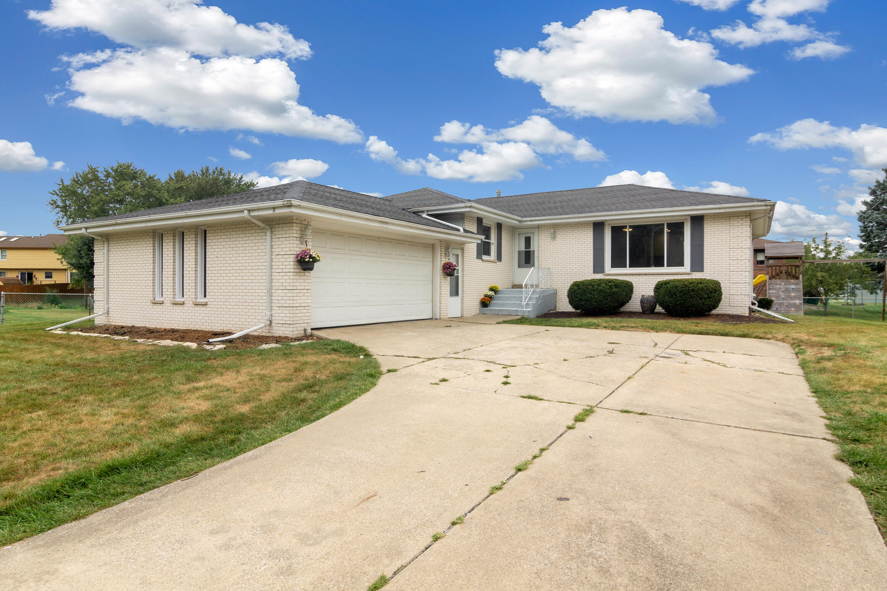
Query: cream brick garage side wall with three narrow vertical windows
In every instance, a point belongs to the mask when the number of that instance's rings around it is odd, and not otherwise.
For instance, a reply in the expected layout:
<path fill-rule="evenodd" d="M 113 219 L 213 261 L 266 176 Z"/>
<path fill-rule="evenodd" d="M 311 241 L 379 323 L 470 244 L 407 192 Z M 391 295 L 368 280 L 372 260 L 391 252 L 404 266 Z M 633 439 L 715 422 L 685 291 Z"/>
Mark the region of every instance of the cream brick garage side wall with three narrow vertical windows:
<path fill-rule="evenodd" d="M 272 269 L 271 326 L 259 334 L 298 336 L 310 329 L 310 273 L 294 254 L 305 221 L 270 222 Z M 158 328 L 244 330 L 265 320 L 265 230 L 252 222 L 207 227 L 207 299 L 197 302 L 197 228 L 184 228 L 184 299 L 176 301 L 175 236 L 163 239 L 163 298 L 154 298 L 153 231 L 109 237 L 110 313 L 97 323 L 127 323 Z M 96 243 L 96 309 L 104 307 L 104 251 Z"/>

